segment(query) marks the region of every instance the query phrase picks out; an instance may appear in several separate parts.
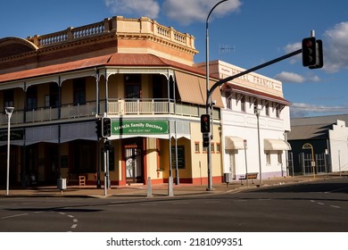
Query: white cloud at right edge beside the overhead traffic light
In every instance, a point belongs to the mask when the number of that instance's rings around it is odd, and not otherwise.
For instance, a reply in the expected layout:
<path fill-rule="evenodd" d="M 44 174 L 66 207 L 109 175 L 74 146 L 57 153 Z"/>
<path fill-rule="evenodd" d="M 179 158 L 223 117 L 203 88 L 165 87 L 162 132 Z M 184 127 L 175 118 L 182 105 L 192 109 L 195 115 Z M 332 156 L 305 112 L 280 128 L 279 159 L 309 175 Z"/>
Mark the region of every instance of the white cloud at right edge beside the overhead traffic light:
<path fill-rule="evenodd" d="M 348 21 L 336 24 L 333 29 L 327 29 L 324 37 L 324 70 L 336 72 L 348 68 Z"/>

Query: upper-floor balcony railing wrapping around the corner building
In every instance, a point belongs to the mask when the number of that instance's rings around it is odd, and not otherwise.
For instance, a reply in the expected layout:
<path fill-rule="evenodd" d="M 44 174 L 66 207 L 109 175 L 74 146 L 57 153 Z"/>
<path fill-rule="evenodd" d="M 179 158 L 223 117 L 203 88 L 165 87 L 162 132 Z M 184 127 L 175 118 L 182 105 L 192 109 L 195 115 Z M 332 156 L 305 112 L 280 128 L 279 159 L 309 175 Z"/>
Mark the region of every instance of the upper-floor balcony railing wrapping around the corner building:
<path fill-rule="evenodd" d="M 100 101 L 100 114 L 104 113 L 105 102 Z M 176 114 L 182 116 L 199 117 L 205 113 L 205 108 L 197 104 L 175 103 L 169 99 L 109 99 L 108 114 L 110 115 L 155 115 L 155 114 Z M 11 123 L 21 125 L 25 123 L 45 122 L 79 119 L 95 117 L 95 102 L 86 104 L 62 104 L 61 117 L 59 118 L 58 108 L 38 108 L 32 111 L 14 110 L 12 113 Z M 25 120 L 24 120 L 25 115 Z M 220 118 L 220 114 L 214 111 L 214 118 Z M 7 125 L 7 116 L 0 115 L 0 126 Z"/>

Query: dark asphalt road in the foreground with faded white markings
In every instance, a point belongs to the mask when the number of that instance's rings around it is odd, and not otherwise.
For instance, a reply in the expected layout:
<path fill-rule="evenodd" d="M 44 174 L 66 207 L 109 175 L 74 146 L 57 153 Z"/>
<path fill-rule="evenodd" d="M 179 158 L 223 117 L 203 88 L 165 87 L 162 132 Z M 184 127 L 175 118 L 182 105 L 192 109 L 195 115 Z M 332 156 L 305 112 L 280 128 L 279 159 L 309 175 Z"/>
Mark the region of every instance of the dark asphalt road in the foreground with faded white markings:
<path fill-rule="evenodd" d="M 348 179 L 162 198 L 3 197 L 3 232 L 348 230 Z"/>

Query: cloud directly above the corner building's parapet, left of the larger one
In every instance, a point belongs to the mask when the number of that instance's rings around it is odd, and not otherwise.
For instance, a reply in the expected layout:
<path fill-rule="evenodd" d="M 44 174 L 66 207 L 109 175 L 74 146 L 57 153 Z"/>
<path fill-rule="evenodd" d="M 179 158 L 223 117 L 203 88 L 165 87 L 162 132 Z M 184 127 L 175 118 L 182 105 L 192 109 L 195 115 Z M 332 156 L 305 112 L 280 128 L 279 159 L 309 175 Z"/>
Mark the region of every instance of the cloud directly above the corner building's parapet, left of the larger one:
<path fill-rule="evenodd" d="M 160 4 L 155 0 L 104 0 L 104 3 L 115 15 L 137 14 L 154 19 L 160 13 Z"/>

